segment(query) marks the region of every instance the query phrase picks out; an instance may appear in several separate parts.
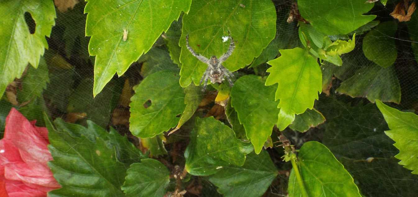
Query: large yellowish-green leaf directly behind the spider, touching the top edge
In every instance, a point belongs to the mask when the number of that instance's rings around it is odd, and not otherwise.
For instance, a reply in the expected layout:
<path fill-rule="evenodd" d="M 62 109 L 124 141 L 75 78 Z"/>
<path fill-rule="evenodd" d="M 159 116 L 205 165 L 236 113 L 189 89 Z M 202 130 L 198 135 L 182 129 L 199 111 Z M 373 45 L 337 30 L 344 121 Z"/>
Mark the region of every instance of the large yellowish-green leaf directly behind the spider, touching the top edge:
<path fill-rule="evenodd" d="M 229 47 L 229 41 L 222 42 L 222 36 L 227 36 L 228 30 L 234 39 L 235 49 L 223 65 L 233 72 L 249 65 L 275 37 L 276 10 L 273 2 L 229 0 L 223 1 L 220 6 L 205 0 L 194 0 L 189 14 L 183 17 L 180 38 L 182 87 L 187 87 L 192 81 L 199 85 L 207 67 L 186 48 L 186 35 L 189 35 L 190 46 L 196 53 L 206 58 L 213 55 L 220 57 Z"/>

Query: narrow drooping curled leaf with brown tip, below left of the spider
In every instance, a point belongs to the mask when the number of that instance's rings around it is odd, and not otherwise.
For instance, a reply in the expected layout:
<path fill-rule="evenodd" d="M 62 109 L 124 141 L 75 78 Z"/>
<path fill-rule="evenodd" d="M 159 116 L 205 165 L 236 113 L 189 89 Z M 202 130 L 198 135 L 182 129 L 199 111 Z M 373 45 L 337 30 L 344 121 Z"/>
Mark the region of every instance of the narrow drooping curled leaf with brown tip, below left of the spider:
<path fill-rule="evenodd" d="M 189 120 L 194 115 L 197 107 L 199 107 L 199 103 L 203 99 L 201 88 L 193 84 L 190 84 L 184 88 L 184 95 L 184 104 L 186 104 L 186 108 L 184 109 L 180 120 L 178 120 L 176 130 L 178 130 L 182 125 L 184 125 L 184 123 L 187 122 L 187 120 Z"/>

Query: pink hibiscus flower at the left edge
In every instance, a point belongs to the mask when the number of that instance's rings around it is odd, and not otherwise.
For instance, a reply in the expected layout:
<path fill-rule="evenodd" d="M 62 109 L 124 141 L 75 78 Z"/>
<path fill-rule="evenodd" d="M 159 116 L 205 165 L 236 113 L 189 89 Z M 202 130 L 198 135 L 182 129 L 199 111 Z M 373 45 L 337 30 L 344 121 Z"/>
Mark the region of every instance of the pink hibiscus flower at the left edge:
<path fill-rule="evenodd" d="M 0 195 L 5 190 L 9 197 L 43 197 L 61 187 L 47 164 L 52 160 L 48 130 L 35 123 L 15 108 L 6 117 L 0 140 Z"/>

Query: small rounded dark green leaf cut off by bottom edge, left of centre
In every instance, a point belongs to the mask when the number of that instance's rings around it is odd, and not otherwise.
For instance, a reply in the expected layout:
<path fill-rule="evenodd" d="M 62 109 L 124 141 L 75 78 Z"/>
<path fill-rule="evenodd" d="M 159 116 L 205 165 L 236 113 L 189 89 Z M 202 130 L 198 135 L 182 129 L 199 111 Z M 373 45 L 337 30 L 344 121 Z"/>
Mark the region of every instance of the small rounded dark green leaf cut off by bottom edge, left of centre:
<path fill-rule="evenodd" d="M 161 162 L 143 159 L 127 170 L 122 186 L 127 197 L 161 197 L 170 183 L 170 172 Z"/>

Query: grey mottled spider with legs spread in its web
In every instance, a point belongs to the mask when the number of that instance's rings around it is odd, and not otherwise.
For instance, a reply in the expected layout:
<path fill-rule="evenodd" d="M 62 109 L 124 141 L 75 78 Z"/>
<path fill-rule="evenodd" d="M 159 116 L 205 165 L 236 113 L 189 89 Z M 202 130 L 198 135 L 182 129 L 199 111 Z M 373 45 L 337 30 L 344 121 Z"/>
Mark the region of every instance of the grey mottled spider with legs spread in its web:
<path fill-rule="evenodd" d="M 234 48 L 235 48 L 234 40 L 232 39 L 231 34 L 229 33 L 229 31 L 228 31 L 228 37 L 229 37 L 229 39 L 231 39 L 231 43 L 229 44 L 228 51 L 224 55 L 219 57 L 219 59 L 216 56 L 212 56 L 210 59 L 208 59 L 208 58 L 203 57 L 203 56 L 199 55 L 198 53 L 196 53 L 189 46 L 189 35 L 186 36 L 186 47 L 187 47 L 187 49 L 189 49 L 189 51 L 191 52 L 191 54 L 194 57 L 196 57 L 198 60 L 200 60 L 201 62 L 208 65 L 208 67 L 206 68 L 206 71 L 203 73 L 203 76 L 200 79 L 200 83 L 199 83 L 199 84 L 202 84 L 202 82 L 203 82 L 202 92 L 204 92 L 206 90 L 208 79 L 210 79 L 210 81 L 212 83 L 222 83 L 225 80 L 225 77 L 226 77 L 228 82 L 229 82 L 229 85 L 230 86 L 234 85 L 232 83 L 232 80 L 231 80 L 231 77 L 233 77 L 234 75 L 232 75 L 232 73 L 229 72 L 229 70 L 226 69 L 222 65 L 222 62 L 224 62 L 225 60 L 228 59 L 228 57 L 232 54 L 232 52 L 234 51 Z"/>

